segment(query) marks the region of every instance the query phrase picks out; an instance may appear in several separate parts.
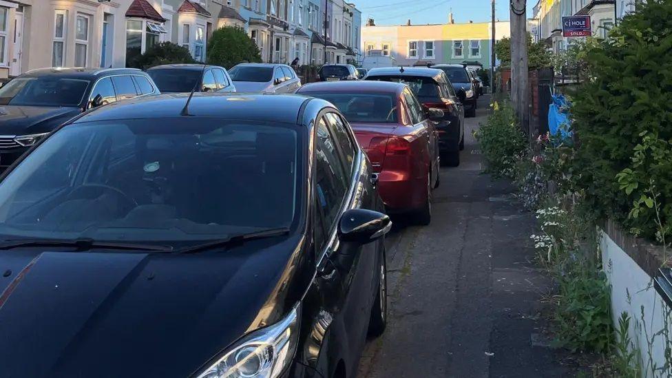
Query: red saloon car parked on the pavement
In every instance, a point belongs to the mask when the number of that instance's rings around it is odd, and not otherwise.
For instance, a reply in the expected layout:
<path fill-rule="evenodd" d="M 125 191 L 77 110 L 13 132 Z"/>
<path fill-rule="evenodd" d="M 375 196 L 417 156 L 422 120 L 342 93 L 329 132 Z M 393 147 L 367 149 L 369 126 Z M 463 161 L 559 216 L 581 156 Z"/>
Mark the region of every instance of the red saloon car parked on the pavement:
<path fill-rule="evenodd" d="M 440 109 L 420 104 L 410 87 L 377 81 L 304 85 L 297 94 L 323 98 L 346 116 L 377 174 L 389 213 L 408 213 L 419 224 L 432 219 L 432 189 L 439 186 Z"/>

